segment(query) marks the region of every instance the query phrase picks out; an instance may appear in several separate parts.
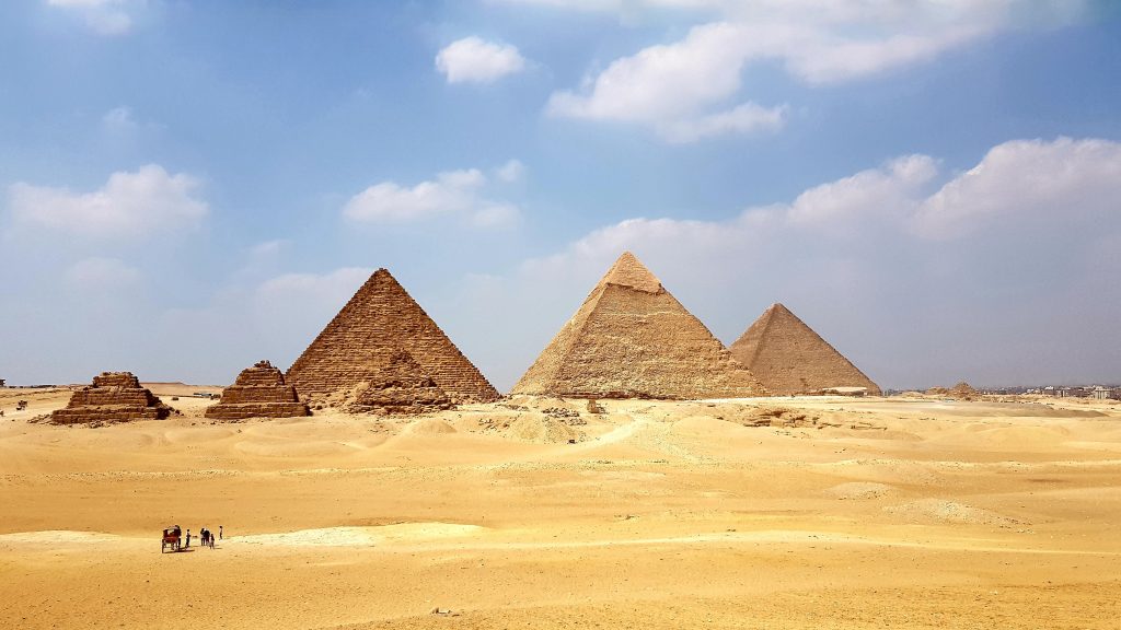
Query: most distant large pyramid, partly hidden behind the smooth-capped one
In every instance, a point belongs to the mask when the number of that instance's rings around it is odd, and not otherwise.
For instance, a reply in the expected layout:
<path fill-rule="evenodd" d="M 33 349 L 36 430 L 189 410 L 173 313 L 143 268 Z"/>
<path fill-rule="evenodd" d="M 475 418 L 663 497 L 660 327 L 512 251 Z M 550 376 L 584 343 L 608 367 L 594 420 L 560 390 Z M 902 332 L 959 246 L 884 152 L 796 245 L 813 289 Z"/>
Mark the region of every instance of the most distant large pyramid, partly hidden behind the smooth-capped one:
<path fill-rule="evenodd" d="M 880 388 L 794 313 L 775 304 L 731 348 L 771 393 L 810 393 L 825 388 Z"/>

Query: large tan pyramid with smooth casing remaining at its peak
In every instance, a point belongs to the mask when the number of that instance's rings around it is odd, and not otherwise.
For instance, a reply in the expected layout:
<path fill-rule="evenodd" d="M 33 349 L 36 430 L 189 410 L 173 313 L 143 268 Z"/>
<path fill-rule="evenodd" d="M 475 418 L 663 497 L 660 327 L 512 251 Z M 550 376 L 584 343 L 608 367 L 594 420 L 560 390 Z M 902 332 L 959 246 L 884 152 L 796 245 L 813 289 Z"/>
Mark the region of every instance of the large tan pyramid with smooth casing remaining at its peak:
<path fill-rule="evenodd" d="M 624 252 L 511 393 L 738 398 L 759 381 L 630 252 Z"/>

